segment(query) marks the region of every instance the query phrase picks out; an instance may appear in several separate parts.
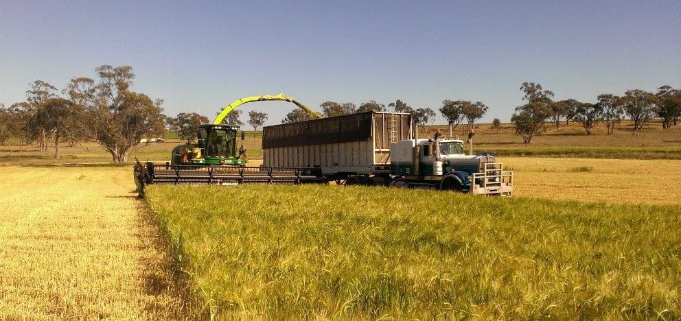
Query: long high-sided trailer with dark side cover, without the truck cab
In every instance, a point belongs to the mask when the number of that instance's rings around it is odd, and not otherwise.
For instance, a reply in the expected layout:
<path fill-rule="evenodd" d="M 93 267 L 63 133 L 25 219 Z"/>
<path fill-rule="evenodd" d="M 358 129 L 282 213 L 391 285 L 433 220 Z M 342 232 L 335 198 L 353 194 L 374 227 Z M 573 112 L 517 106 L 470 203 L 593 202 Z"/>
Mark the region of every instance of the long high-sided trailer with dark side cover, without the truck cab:
<path fill-rule="evenodd" d="M 390 143 L 412 139 L 411 115 L 357 114 L 263 128 L 263 165 L 314 167 L 327 175 L 389 172 Z"/>

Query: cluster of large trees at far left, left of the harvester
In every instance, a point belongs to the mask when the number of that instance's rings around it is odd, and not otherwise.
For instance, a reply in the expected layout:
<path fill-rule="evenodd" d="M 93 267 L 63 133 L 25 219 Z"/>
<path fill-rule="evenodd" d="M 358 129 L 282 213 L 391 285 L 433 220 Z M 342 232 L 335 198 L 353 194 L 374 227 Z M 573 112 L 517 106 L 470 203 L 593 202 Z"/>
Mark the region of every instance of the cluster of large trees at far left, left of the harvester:
<path fill-rule="evenodd" d="M 0 143 L 15 136 L 21 143 L 38 143 L 46 152 L 52 141 L 58 158 L 60 143 L 91 140 L 122 163 L 143 136 L 159 135 L 165 124 L 163 100 L 132 91 L 134 78 L 131 67 L 103 65 L 94 78 L 72 78 L 61 91 L 36 80 L 25 102 L 1 106 Z"/>

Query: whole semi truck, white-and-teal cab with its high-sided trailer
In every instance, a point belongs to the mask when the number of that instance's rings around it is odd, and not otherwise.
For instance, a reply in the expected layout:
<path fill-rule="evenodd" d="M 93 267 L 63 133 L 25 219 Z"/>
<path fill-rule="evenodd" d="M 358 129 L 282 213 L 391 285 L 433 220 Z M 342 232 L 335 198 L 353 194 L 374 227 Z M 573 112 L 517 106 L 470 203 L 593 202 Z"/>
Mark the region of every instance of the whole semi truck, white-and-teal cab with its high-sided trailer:
<path fill-rule="evenodd" d="M 315 168 L 344 185 L 510 196 L 513 172 L 459 139 L 417 136 L 411 114 L 360 112 L 263 128 L 264 167 Z"/>

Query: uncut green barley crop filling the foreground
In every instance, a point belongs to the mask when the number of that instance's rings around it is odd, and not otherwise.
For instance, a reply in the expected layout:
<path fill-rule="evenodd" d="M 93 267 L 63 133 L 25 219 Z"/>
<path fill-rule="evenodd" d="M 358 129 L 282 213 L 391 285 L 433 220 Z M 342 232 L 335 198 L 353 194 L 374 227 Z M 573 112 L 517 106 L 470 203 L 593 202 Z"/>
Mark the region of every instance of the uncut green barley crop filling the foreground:
<path fill-rule="evenodd" d="M 681 318 L 681 206 L 341 186 L 150 186 L 219 318 Z"/>

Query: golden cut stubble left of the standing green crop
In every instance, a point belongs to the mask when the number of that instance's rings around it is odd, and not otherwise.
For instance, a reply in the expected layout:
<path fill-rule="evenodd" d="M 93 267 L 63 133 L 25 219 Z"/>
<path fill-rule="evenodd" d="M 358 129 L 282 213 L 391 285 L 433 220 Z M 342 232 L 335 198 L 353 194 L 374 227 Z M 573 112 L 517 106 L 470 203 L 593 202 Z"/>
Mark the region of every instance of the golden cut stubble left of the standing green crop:
<path fill-rule="evenodd" d="M 0 176 L 0 319 L 181 316 L 128 168 L 0 167 Z"/>

